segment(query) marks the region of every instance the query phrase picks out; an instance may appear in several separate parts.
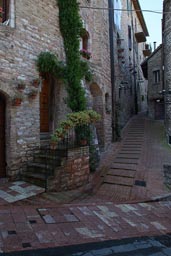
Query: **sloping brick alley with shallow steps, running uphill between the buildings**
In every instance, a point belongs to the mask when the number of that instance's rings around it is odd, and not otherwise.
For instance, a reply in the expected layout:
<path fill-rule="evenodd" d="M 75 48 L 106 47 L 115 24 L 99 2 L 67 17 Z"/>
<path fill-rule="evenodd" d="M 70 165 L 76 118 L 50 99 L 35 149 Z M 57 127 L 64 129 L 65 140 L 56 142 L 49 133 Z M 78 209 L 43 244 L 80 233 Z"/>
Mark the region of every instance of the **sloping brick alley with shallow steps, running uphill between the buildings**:
<path fill-rule="evenodd" d="M 106 158 L 103 183 L 83 202 L 134 202 L 152 200 L 169 193 L 164 186 L 163 165 L 171 165 L 162 121 L 143 115 L 133 117 L 123 131 L 117 150 Z"/>

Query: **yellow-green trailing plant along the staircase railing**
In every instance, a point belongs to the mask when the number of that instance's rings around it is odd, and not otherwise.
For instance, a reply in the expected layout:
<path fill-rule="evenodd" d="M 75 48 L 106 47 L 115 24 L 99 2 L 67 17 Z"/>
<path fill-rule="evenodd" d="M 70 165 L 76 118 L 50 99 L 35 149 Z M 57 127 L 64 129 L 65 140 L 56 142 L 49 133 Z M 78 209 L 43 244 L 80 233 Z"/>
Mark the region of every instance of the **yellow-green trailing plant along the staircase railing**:
<path fill-rule="evenodd" d="M 93 110 L 85 110 L 79 112 L 73 112 L 67 115 L 67 119 L 63 120 L 59 127 L 56 129 L 52 136 L 53 141 L 60 141 L 65 137 L 70 129 L 76 128 L 75 132 L 77 136 L 89 137 L 90 131 L 87 129 L 89 124 L 95 123 L 101 119 L 101 116 Z M 80 128 L 82 127 L 82 128 Z"/>

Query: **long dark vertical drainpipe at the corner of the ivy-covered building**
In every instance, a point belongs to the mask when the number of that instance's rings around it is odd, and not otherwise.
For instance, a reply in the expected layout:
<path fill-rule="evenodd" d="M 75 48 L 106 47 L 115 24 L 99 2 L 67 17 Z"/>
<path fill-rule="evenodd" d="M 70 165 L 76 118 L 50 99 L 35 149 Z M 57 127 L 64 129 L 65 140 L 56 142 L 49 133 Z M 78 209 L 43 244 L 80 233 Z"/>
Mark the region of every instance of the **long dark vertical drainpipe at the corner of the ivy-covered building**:
<path fill-rule="evenodd" d="M 112 99 L 112 142 L 115 136 L 115 60 L 114 60 L 114 5 L 113 0 L 108 0 L 109 5 L 109 45 L 110 45 L 110 68 L 111 68 L 111 99 Z"/>

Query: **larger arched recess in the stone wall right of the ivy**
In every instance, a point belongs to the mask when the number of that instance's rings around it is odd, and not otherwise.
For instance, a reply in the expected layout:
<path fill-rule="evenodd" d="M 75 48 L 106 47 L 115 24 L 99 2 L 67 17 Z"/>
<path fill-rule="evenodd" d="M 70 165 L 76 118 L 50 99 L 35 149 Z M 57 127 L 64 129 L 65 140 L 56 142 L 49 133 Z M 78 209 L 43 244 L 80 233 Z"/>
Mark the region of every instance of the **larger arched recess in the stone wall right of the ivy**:
<path fill-rule="evenodd" d="M 104 147 L 104 107 L 103 107 L 103 97 L 102 97 L 102 91 L 98 84 L 93 83 L 90 85 L 90 92 L 92 95 L 92 105 L 93 110 L 98 112 L 101 115 L 101 120 L 95 124 L 96 131 L 97 131 L 97 138 L 99 142 L 100 147 Z"/>

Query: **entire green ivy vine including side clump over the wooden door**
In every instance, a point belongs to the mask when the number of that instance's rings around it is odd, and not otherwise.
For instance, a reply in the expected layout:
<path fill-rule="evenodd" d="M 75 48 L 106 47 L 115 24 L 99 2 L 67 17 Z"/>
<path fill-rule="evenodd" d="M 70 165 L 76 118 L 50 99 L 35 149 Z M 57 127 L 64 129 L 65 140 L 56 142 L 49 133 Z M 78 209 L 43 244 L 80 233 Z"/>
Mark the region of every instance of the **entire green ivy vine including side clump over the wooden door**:
<path fill-rule="evenodd" d="M 86 109 L 85 90 L 81 80 L 92 81 L 93 74 L 89 64 L 80 58 L 80 36 L 85 33 L 79 15 L 77 0 L 56 0 L 59 7 L 59 25 L 64 40 L 66 64 L 59 61 L 51 52 L 41 52 L 36 60 L 38 71 L 42 75 L 52 76 L 66 82 L 68 99 L 67 105 L 73 112 Z"/>

